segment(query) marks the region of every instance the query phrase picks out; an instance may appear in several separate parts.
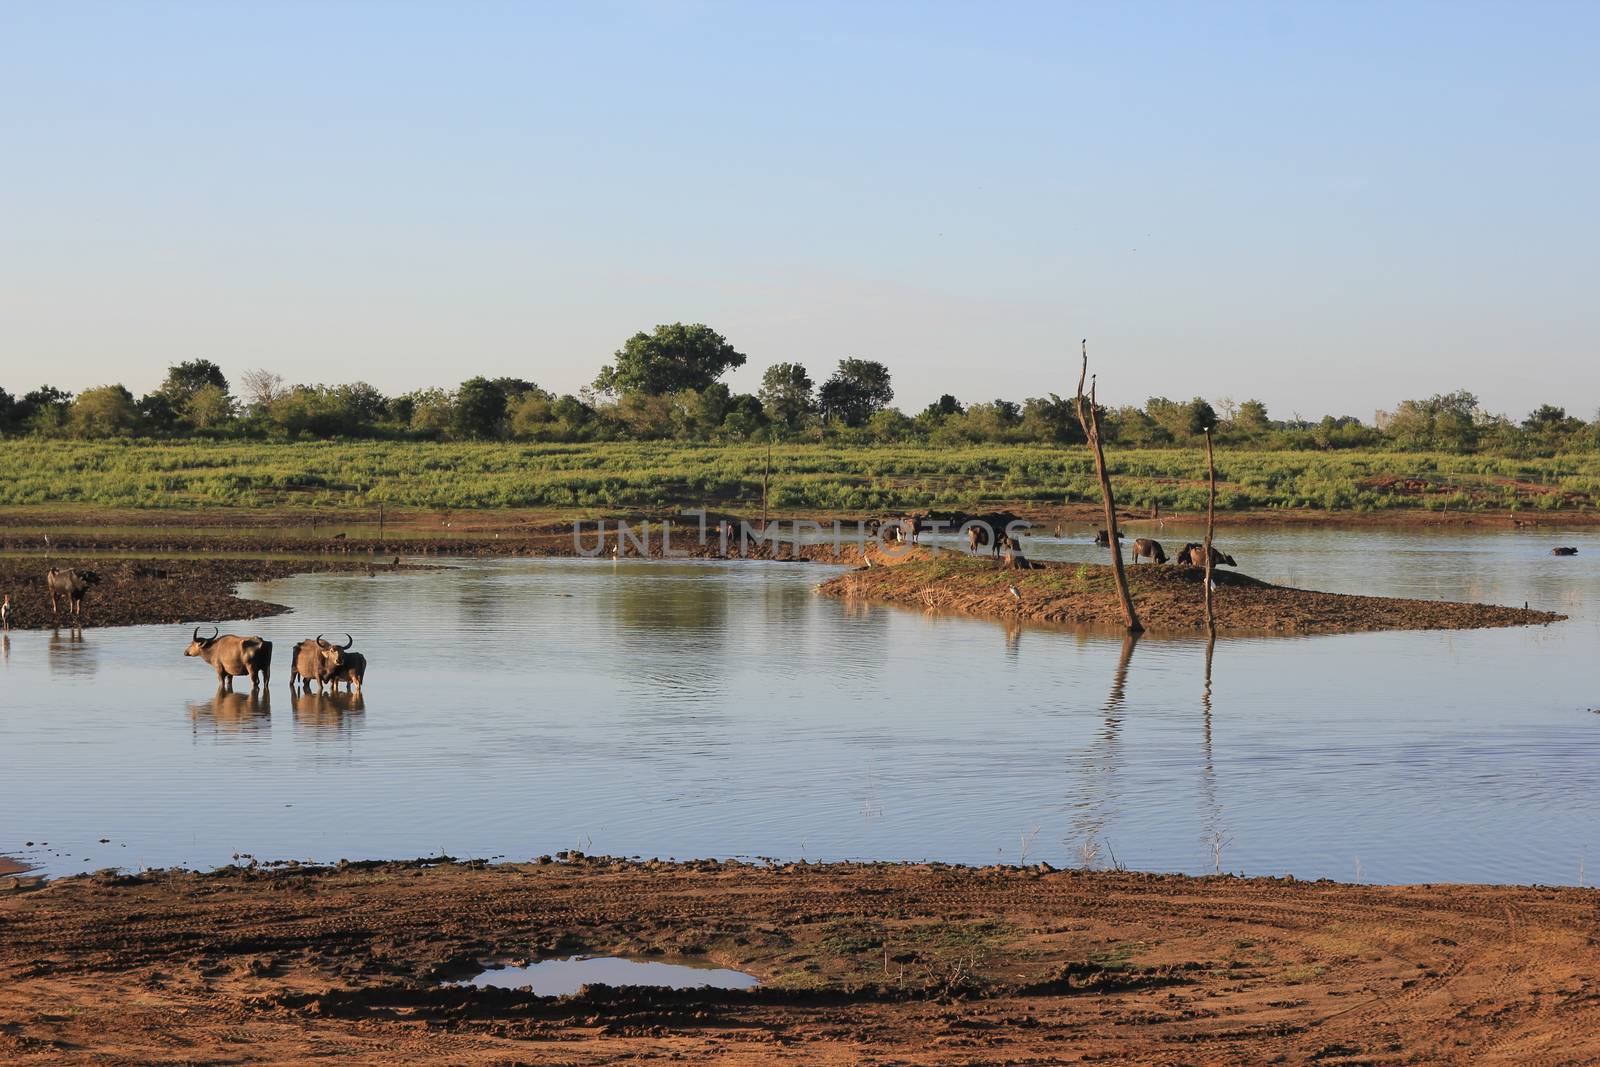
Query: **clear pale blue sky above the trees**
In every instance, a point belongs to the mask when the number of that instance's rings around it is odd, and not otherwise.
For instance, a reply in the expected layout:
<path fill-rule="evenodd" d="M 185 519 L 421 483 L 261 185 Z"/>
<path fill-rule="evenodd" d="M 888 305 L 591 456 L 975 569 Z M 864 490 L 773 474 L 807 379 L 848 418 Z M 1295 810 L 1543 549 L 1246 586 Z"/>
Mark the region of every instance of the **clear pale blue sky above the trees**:
<path fill-rule="evenodd" d="M 1600 408 L 1600 5 L 0 0 L 0 386 Z"/>

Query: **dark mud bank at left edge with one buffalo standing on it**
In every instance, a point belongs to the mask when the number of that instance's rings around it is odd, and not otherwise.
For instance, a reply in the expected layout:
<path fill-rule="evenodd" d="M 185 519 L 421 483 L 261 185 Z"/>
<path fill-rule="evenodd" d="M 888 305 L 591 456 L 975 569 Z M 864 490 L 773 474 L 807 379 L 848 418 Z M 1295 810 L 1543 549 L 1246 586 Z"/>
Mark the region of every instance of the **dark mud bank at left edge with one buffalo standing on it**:
<path fill-rule="evenodd" d="M 307 571 L 355 571 L 379 574 L 398 568 L 346 560 L 216 560 L 216 558 L 0 558 L 0 592 L 11 593 L 11 629 L 48 630 L 72 624 L 70 605 L 50 609 L 45 569 L 85 568 L 99 574 L 83 601 L 82 624 L 141 625 L 150 622 L 219 622 L 261 619 L 288 611 L 283 605 L 234 595 L 238 582 L 259 582 Z"/>

